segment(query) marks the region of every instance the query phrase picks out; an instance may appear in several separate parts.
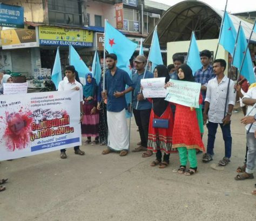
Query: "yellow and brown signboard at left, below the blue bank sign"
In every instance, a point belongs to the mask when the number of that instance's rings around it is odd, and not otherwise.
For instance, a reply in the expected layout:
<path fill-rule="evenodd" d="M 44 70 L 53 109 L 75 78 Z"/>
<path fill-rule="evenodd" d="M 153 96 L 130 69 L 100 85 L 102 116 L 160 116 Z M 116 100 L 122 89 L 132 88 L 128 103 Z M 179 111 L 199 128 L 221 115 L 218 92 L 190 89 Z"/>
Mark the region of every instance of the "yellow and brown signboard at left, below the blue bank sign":
<path fill-rule="evenodd" d="M 38 47 L 36 30 L 33 29 L 6 29 L 1 31 L 3 50 L 21 49 L 23 47 Z"/>

